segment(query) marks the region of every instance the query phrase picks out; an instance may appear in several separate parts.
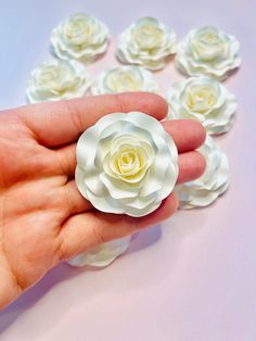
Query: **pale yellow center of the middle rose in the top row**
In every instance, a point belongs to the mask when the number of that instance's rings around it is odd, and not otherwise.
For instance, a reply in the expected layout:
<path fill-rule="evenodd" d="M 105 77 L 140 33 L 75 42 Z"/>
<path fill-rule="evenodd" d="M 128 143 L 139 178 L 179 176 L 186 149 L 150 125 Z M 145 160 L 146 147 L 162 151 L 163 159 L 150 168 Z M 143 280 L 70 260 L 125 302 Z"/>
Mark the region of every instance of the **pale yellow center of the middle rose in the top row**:
<path fill-rule="evenodd" d="M 133 38 L 140 48 L 150 50 L 161 46 L 163 31 L 157 26 L 144 24 L 135 29 Z"/>

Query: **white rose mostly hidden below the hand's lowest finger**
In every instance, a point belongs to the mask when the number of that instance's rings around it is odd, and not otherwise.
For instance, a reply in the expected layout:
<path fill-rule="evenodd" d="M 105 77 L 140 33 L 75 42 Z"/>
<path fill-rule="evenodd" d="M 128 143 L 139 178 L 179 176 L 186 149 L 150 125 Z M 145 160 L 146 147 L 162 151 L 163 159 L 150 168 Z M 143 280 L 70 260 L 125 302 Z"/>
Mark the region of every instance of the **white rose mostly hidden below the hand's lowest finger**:
<path fill-rule="evenodd" d="M 129 236 L 102 243 L 88 252 L 73 257 L 67 263 L 77 267 L 85 265 L 105 267 L 129 248 L 130 240 L 131 237 Z"/>

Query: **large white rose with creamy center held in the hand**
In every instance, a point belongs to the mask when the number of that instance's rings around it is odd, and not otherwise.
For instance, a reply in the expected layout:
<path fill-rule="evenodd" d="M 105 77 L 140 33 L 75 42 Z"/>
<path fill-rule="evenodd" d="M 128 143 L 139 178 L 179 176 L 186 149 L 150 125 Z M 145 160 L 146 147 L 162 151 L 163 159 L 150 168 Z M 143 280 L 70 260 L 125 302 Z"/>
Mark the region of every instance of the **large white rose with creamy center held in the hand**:
<path fill-rule="evenodd" d="M 143 216 L 172 191 L 177 149 L 151 116 L 106 115 L 79 138 L 75 177 L 79 191 L 95 209 Z"/>

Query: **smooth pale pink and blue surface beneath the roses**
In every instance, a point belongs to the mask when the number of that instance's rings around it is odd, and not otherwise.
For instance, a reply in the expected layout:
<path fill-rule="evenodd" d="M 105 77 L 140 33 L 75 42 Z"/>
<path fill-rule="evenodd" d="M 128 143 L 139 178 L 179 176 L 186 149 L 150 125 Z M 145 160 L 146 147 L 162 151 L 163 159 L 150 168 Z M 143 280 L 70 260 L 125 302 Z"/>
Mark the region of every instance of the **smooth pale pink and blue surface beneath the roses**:
<path fill-rule="evenodd" d="M 71 13 L 97 15 L 114 36 L 154 15 L 181 38 L 214 24 L 242 43 L 241 70 L 225 84 L 239 101 L 234 127 L 216 139 L 232 184 L 213 206 L 179 212 L 137 236 L 100 271 L 63 264 L 0 313 L 4 341 L 255 341 L 256 152 L 255 10 L 253 1 L 0 0 L 0 106 L 25 103 L 29 72 L 50 59 L 52 27 Z M 113 48 L 113 47 L 112 47 Z M 90 70 L 117 62 L 113 50 Z M 155 74 L 165 91 L 183 76 L 171 62 Z"/>

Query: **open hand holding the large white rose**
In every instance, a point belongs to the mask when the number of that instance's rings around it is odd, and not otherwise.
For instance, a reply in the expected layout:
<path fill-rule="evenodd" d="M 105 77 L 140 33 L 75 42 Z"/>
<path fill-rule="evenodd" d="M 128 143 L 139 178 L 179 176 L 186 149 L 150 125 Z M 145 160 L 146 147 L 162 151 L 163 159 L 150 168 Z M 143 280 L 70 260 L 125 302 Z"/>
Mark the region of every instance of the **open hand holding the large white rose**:
<path fill-rule="evenodd" d="M 76 141 L 101 116 L 142 111 L 163 119 L 156 94 L 124 93 L 27 105 L 0 114 L 0 308 L 59 262 L 170 217 L 170 194 L 152 214 L 133 218 L 94 210 L 74 181 Z M 201 176 L 205 139 L 194 121 L 163 123 L 179 151 L 179 182 Z"/>

